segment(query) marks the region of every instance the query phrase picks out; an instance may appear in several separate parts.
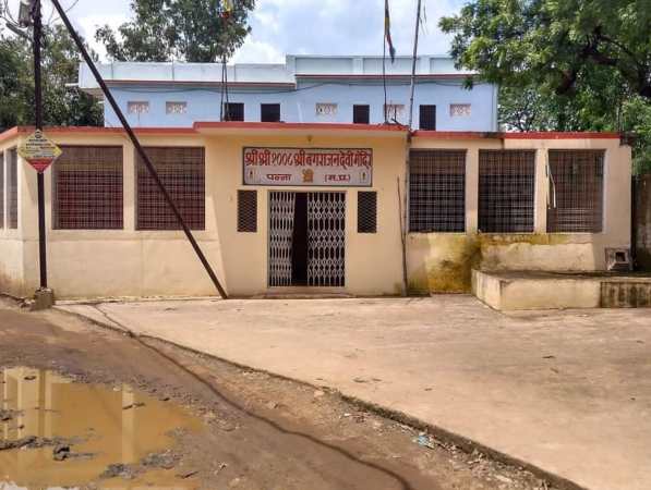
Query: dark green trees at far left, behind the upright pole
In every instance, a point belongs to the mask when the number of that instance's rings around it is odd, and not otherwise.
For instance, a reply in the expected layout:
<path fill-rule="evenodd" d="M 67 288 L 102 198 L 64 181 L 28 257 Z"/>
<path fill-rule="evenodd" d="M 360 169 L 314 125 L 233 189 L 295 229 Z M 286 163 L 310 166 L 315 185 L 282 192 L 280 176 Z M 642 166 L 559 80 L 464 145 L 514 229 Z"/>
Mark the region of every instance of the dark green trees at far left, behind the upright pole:
<path fill-rule="evenodd" d="M 43 99 L 46 125 L 101 125 L 103 111 L 89 95 L 67 84 L 77 81 L 80 54 L 65 28 L 45 27 Z M 32 45 L 0 32 L 0 131 L 34 124 Z"/>

